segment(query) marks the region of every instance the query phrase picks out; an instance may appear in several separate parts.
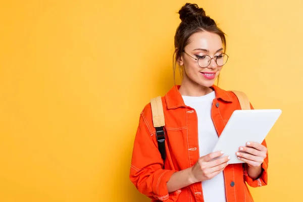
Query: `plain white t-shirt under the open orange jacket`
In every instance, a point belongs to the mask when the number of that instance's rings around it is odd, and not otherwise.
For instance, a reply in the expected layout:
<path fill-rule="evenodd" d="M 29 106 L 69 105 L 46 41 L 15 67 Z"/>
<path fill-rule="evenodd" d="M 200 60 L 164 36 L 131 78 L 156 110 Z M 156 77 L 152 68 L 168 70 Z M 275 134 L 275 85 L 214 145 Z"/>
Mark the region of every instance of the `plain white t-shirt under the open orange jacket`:
<path fill-rule="evenodd" d="M 200 157 L 212 152 L 218 141 L 214 123 L 211 117 L 215 91 L 204 96 L 182 96 L 186 106 L 193 108 L 198 117 L 198 141 Z M 214 178 L 202 182 L 203 196 L 206 202 L 226 202 L 223 172 Z"/>

